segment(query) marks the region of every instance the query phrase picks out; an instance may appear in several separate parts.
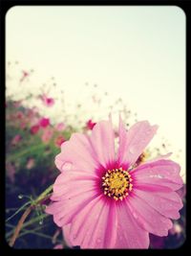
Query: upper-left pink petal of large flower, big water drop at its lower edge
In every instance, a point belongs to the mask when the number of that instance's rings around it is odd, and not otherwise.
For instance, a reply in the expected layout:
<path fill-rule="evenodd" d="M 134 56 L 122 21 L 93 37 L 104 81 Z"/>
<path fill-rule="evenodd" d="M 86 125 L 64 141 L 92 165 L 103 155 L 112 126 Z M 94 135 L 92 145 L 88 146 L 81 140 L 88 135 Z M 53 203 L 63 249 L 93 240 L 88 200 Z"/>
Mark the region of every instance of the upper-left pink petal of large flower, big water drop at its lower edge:
<path fill-rule="evenodd" d="M 98 164 L 85 135 L 74 133 L 70 141 L 62 144 L 61 152 L 55 157 L 55 165 L 62 172 L 66 163 L 71 163 L 75 169 L 87 170 L 89 173 L 95 172 Z"/>

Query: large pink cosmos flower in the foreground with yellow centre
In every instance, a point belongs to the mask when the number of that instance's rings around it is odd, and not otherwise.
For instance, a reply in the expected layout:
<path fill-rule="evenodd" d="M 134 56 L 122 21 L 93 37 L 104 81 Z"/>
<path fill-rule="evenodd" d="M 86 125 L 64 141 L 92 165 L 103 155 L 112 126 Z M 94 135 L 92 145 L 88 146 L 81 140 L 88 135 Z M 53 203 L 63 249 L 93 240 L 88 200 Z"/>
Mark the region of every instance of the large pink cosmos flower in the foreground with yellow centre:
<path fill-rule="evenodd" d="M 180 165 L 169 154 L 135 164 L 158 127 L 138 122 L 128 131 L 119 119 L 115 151 L 112 120 L 90 136 L 74 133 L 55 157 L 60 175 L 46 212 L 65 238 L 81 248 L 148 248 L 149 233 L 167 236 L 180 218 Z"/>

